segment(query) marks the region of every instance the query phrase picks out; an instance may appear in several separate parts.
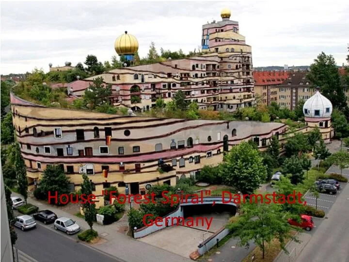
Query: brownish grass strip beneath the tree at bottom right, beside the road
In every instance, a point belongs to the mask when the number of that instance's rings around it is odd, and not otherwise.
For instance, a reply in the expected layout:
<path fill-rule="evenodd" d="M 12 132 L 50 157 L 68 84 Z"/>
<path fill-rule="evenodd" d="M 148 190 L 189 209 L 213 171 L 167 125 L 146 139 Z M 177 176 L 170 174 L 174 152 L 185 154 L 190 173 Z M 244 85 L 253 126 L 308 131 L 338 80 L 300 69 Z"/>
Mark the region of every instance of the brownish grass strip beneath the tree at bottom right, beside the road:
<path fill-rule="evenodd" d="M 291 231 L 292 235 L 296 234 L 296 231 Z M 286 244 L 290 241 L 290 239 L 286 240 Z M 280 242 L 277 239 L 274 239 L 270 242 L 270 244 L 266 244 L 265 252 L 264 252 L 264 259 L 262 250 L 259 248 L 259 246 L 256 246 L 254 250 L 242 261 L 242 262 L 251 262 L 252 256 L 254 255 L 254 262 L 272 262 L 274 259 L 279 255 L 281 252 Z"/>

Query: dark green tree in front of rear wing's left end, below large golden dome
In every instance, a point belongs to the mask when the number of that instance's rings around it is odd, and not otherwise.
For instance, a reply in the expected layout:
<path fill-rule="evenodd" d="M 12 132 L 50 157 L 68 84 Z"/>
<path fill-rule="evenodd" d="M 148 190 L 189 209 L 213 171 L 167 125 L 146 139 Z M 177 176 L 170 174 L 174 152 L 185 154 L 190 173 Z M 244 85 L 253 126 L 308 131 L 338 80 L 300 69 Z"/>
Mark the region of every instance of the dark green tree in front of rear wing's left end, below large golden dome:
<path fill-rule="evenodd" d="M 97 77 L 89 88 L 85 90 L 83 99 L 90 109 L 95 109 L 105 103 L 110 103 L 109 96 L 111 96 L 111 85 L 106 87 L 103 84 L 103 78 Z"/>

